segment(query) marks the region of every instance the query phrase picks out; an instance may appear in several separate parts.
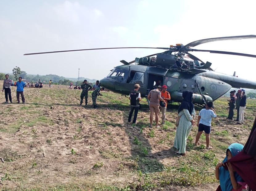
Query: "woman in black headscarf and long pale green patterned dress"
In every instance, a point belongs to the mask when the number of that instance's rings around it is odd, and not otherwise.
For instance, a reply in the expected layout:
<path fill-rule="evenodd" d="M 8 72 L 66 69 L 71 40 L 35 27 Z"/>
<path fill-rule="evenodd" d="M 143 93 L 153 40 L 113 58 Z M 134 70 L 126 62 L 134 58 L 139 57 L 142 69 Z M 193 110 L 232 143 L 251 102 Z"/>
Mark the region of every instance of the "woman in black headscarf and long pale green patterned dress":
<path fill-rule="evenodd" d="M 174 139 L 174 147 L 177 150 L 177 154 L 183 156 L 186 155 L 186 145 L 188 134 L 192 129 L 192 125 L 195 125 L 193 118 L 196 115 L 194 104 L 192 103 L 193 92 L 184 91 L 182 93 L 183 101 L 178 109 L 178 116 L 180 116 L 179 125 L 176 129 L 176 135 Z"/>

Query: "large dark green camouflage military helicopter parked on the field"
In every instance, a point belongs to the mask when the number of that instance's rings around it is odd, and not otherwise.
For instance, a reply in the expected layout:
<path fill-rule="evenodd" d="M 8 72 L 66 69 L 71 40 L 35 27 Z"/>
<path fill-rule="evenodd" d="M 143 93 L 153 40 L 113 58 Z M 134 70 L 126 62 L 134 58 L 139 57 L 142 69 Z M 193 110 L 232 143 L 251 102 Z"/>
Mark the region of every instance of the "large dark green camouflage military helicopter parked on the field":
<path fill-rule="evenodd" d="M 256 35 L 208 38 L 193 41 L 187 45 L 171 45 L 169 48 L 95 48 L 28 53 L 24 55 L 98 49 L 164 49 L 166 51 L 162 53 L 156 53 L 141 58 L 136 57 L 135 60 L 131 62 L 121 60 L 120 62 L 123 65 L 116 66 L 113 70 L 111 70 L 108 76 L 100 80 L 100 85 L 112 92 L 126 96 L 130 94 L 132 89 L 134 89 L 134 84 L 139 84 L 141 87 L 141 96 L 146 97 L 146 99 L 148 93 L 156 86 L 167 85 L 167 91 L 171 95 L 171 102 L 181 102 L 183 100 L 182 92 L 185 90 L 190 90 L 193 92 L 193 103 L 198 106 L 204 106 L 207 101 L 215 101 L 228 92 L 232 87 L 256 89 L 256 82 L 238 78 L 235 76 L 235 73 L 233 76 L 229 76 L 227 74 L 215 72 L 212 68 L 210 68 L 212 63 L 208 61 L 204 63 L 202 60 L 189 52 L 209 52 L 254 58 L 256 58 L 256 55 L 216 50 L 192 49 L 192 47 L 213 41 L 241 40 L 251 38 L 256 38 Z"/>

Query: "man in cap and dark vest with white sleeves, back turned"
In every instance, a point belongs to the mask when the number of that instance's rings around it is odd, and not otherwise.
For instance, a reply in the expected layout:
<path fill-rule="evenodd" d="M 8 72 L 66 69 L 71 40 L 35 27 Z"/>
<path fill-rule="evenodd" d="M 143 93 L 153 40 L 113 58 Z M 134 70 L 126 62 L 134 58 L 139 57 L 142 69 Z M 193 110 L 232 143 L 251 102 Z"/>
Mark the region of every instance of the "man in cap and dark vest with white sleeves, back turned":
<path fill-rule="evenodd" d="M 131 122 L 132 114 L 134 111 L 134 117 L 132 123 L 136 123 L 138 111 L 139 111 L 139 101 L 141 100 L 140 92 L 138 91 L 140 88 L 139 84 L 134 84 L 134 90 L 130 92 L 129 99 L 131 104 L 131 111 L 128 117 L 128 123 Z"/>

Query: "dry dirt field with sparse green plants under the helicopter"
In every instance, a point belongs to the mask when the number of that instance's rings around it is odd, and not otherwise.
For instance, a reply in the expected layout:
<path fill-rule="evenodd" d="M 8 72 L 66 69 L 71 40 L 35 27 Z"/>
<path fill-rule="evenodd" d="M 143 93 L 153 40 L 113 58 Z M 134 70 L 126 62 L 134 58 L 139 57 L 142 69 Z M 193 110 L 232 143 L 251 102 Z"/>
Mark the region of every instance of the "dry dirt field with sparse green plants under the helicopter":
<path fill-rule="evenodd" d="M 225 119 L 226 98 L 218 99 L 213 149 L 205 149 L 203 135 L 193 146 L 193 127 L 181 157 L 172 148 L 177 103 L 168 105 L 167 121 L 156 129 L 148 127 L 146 99 L 133 127 L 126 123 L 128 98 L 112 92 L 102 92 L 93 109 L 91 92 L 89 106 L 79 106 L 81 90 L 68 86 L 25 88 L 26 104 L 16 103 L 15 90 L 14 103 L 5 104 L 4 93 L 0 98 L 1 191 L 216 190 L 215 165 L 229 144 L 246 142 L 256 113 L 256 101 L 248 100 L 245 124 L 235 125 Z"/>

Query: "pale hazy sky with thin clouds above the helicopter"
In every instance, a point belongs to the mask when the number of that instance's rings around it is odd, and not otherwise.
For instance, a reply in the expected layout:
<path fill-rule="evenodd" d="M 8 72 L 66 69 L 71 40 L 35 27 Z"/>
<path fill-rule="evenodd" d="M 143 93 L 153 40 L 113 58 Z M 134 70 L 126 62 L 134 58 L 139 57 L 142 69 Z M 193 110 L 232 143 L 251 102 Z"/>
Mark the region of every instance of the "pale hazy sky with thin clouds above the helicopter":
<path fill-rule="evenodd" d="M 104 47 L 169 47 L 176 43 L 256 34 L 255 1 L 0 1 L 0 71 L 101 79 L 119 60 L 157 49 L 94 50 L 23 56 L 24 53 Z M 256 40 L 196 46 L 256 54 Z M 256 58 L 193 53 L 217 72 L 254 80 Z M 253 69 L 252 69 L 253 68 Z"/>

